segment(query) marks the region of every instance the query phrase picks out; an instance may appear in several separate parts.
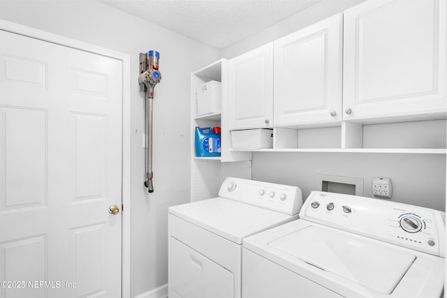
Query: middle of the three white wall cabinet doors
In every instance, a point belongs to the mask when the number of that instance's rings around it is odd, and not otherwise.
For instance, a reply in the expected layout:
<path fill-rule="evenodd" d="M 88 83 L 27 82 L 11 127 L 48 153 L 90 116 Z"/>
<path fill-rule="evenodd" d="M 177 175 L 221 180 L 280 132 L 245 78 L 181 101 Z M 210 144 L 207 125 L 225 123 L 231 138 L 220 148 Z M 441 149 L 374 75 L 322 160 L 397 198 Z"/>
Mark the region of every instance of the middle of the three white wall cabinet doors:
<path fill-rule="evenodd" d="M 274 125 L 342 121 L 342 14 L 274 41 Z"/>

